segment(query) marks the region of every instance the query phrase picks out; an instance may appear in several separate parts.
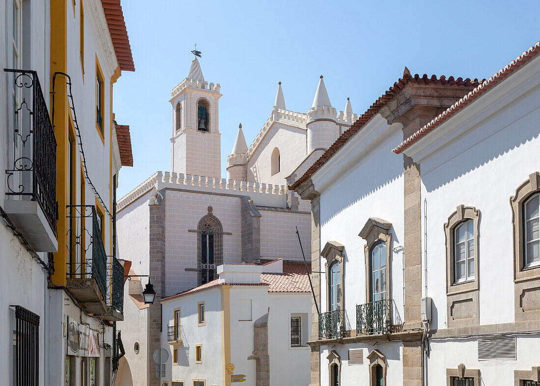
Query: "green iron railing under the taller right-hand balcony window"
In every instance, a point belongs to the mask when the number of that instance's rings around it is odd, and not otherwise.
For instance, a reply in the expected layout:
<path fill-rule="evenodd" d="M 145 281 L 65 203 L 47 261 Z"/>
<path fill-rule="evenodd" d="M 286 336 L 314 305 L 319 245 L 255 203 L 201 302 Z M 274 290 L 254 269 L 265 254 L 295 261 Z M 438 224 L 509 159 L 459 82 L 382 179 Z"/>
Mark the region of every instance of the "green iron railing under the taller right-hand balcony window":
<path fill-rule="evenodd" d="M 356 306 L 356 335 L 392 332 L 392 300 L 377 300 Z"/>

